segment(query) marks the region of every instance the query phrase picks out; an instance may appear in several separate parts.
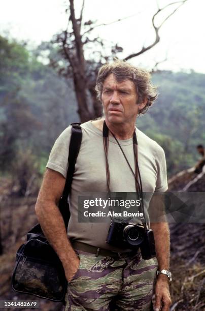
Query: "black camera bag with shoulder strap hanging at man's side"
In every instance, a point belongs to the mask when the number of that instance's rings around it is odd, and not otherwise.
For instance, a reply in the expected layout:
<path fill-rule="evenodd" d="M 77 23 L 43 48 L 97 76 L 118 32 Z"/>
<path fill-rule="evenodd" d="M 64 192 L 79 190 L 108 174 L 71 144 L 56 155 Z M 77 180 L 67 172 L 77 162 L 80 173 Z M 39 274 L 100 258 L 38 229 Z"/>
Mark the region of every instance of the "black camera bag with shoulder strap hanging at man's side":
<path fill-rule="evenodd" d="M 80 123 L 72 123 L 69 168 L 63 194 L 58 203 L 66 230 L 71 215 L 67 197 L 71 190 L 81 140 Z M 27 232 L 27 242 L 22 244 L 17 251 L 16 264 L 12 274 L 12 288 L 20 293 L 35 295 L 56 302 L 64 301 L 67 289 L 64 269 L 57 254 L 44 236 L 40 224 Z"/>

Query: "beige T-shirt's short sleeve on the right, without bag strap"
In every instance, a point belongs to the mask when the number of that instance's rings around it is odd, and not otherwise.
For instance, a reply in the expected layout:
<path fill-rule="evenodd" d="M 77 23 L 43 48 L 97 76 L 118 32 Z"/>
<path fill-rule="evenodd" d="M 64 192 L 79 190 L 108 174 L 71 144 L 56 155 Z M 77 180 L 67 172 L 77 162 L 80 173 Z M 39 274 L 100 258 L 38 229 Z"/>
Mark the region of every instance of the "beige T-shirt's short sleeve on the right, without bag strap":
<path fill-rule="evenodd" d="M 166 176 L 166 159 L 164 150 L 157 144 L 155 161 L 157 167 L 156 192 L 165 192 L 168 189 Z"/>

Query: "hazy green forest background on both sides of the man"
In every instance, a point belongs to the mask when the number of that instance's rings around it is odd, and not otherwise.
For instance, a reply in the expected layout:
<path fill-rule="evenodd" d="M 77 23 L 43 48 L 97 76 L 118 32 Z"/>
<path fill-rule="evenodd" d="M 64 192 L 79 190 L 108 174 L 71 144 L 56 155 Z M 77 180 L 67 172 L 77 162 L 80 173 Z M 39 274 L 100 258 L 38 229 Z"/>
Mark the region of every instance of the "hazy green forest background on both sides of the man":
<path fill-rule="evenodd" d="M 46 48 L 60 59 L 52 45 Z M 25 45 L 0 37 L 2 171 L 11 170 L 19 150 L 32 150 L 43 173 L 56 137 L 79 120 L 72 80 L 40 62 L 46 63 L 42 49 L 45 46 L 28 52 Z M 159 98 L 137 124 L 164 148 L 170 176 L 193 166 L 198 159 L 195 146 L 204 143 L 205 75 L 164 71 L 154 74 L 153 82 L 159 85 Z"/>

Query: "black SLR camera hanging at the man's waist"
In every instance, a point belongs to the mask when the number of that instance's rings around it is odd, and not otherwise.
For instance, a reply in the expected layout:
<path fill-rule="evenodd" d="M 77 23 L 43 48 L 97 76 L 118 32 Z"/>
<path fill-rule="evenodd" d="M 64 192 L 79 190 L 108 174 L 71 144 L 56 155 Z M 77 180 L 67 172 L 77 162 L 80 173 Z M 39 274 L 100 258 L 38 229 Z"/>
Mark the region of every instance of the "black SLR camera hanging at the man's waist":
<path fill-rule="evenodd" d="M 145 229 L 142 224 L 113 221 L 110 225 L 107 240 L 113 246 L 137 249 L 140 247 L 142 258 L 147 260 L 156 256 L 154 233 Z"/>

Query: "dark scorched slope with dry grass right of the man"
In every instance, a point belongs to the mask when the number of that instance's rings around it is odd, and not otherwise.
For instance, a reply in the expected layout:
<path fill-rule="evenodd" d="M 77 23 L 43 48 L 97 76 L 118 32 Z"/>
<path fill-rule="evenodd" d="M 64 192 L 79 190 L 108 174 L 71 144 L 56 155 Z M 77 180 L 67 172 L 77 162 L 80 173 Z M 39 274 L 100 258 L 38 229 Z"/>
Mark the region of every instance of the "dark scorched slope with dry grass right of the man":
<path fill-rule="evenodd" d="M 194 168 L 179 172 L 169 179 L 168 191 L 205 192 L 205 172 L 197 175 Z M 175 284 L 172 296 L 174 310 L 205 308 L 205 224 L 170 224 L 171 269 Z"/>

